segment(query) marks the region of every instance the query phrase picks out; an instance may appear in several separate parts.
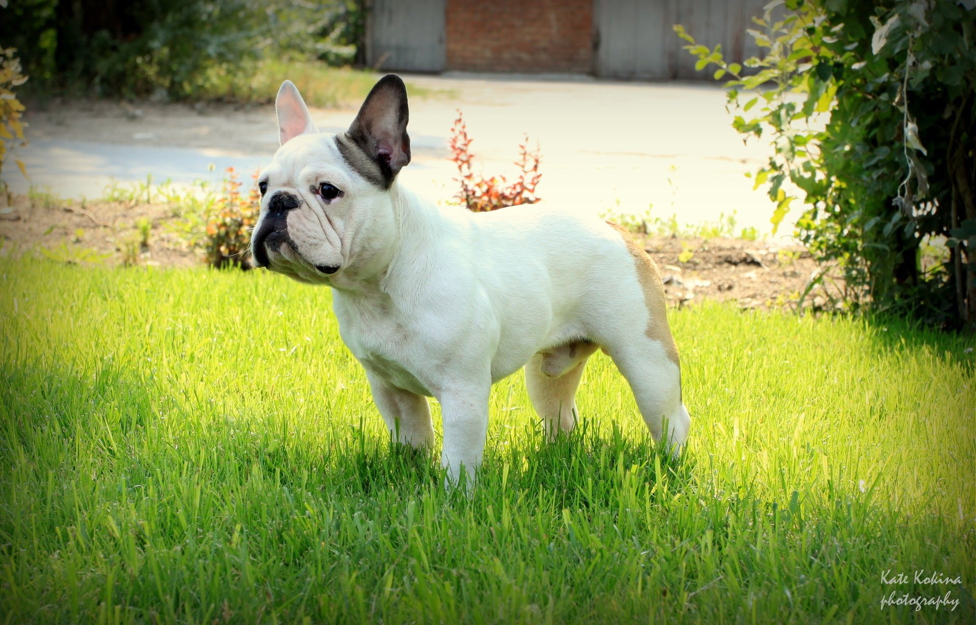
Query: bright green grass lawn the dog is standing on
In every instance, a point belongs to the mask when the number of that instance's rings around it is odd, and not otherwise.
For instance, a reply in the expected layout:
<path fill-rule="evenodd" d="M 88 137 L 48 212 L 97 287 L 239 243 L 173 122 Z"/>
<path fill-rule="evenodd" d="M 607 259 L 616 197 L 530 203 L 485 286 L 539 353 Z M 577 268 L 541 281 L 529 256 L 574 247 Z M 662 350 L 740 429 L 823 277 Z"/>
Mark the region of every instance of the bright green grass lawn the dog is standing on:
<path fill-rule="evenodd" d="M 0 327 L 4 622 L 972 622 L 971 339 L 674 311 L 679 460 L 598 354 L 555 445 L 495 387 L 468 498 L 386 443 L 328 290 L 3 260 Z M 881 583 L 916 569 L 961 583 Z"/>

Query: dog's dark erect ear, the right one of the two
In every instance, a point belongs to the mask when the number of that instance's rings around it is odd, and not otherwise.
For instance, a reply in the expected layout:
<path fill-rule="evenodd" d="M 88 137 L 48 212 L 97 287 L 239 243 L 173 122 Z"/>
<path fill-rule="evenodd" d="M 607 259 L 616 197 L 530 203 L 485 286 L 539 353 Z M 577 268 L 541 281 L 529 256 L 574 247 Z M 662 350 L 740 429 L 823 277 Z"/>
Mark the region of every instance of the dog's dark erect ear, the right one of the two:
<path fill-rule="evenodd" d="M 410 162 L 407 135 L 407 87 L 396 74 L 386 74 L 363 102 L 348 136 L 380 166 L 387 186 Z"/>

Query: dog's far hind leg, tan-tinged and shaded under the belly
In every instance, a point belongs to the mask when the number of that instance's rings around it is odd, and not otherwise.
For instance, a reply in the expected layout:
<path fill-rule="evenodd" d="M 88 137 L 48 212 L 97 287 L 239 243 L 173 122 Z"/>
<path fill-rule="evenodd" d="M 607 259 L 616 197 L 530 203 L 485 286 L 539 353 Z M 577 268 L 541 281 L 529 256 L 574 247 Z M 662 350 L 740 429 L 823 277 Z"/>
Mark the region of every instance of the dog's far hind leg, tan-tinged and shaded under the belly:
<path fill-rule="evenodd" d="M 536 354 L 525 366 L 525 387 L 550 441 L 576 425 L 576 389 L 596 347 L 590 342 L 564 345 Z"/>

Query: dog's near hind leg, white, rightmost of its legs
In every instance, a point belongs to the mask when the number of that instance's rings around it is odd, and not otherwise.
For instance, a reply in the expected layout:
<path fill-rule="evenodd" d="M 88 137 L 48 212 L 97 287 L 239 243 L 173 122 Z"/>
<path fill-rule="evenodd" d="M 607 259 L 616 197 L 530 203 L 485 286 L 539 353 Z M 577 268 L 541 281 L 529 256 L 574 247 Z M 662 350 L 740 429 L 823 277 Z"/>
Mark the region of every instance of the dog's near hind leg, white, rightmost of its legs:
<path fill-rule="evenodd" d="M 681 403 L 681 371 L 661 341 L 634 337 L 610 346 L 610 358 L 624 374 L 644 423 L 655 441 L 664 439 L 676 454 L 684 445 L 691 417 Z"/>

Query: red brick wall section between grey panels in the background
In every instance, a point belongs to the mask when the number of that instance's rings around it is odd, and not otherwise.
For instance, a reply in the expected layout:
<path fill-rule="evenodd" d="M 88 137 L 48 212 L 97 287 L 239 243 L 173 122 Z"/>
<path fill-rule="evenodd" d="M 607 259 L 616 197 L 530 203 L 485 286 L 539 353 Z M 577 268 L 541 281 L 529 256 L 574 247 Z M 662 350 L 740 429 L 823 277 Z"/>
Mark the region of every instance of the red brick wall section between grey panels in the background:
<path fill-rule="evenodd" d="M 592 0 L 447 0 L 447 68 L 590 72 Z"/>

